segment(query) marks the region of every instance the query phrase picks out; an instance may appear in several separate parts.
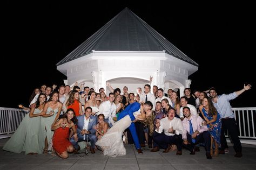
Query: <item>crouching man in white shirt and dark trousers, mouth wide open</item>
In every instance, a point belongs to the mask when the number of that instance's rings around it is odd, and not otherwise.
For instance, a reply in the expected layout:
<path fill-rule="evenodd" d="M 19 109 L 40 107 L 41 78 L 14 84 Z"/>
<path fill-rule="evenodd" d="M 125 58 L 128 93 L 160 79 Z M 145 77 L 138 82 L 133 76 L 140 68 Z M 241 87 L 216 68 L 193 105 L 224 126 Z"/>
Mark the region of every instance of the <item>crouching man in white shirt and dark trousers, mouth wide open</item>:
<path fill-rule="evenodd" d="M 168 110 L 168 117 L 165 117 L 156 123 L 156 132 L 153 135 L 154 148 L 151 152 L 157 152 L 164 148 L 164 153 L 169 152 L 170 146 L 177 145 L 177 155 L 182 154 L 182 134 L 183 124 L 181 120 L 175 117 L 176 111 L 173 108 Z M 162 133 L 164 131 L 164 133 Z M 156 146 L 155 146 L 156 144 Z"/>

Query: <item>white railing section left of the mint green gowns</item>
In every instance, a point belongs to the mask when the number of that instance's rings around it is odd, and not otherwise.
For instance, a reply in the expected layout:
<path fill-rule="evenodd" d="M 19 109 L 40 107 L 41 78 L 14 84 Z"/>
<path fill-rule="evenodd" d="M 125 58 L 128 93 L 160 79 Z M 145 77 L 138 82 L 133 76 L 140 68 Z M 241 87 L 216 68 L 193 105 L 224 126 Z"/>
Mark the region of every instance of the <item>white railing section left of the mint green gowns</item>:
<path fill-rule="evenodd" d="M 26 114 L 24 110 L 0 107 L 0 139 L 10 137 Z"/>

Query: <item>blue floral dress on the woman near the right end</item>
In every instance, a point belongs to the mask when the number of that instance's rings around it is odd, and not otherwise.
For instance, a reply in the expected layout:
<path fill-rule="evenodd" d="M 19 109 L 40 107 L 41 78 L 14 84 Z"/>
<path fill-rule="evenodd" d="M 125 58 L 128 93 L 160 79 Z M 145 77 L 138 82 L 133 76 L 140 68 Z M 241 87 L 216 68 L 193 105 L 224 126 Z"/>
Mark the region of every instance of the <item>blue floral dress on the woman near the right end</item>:
<path fill-rule="evenodd" d="M 202 109 L 205 117 L 211 121 L 213 117 L 209 116 L 205 108 Z M 220 145 L 220 132 L 221 132 L 221 118 L 220 114 L 217 112 L 217 120 L 212 122 L 213 129 L 210 130 L 210 124 L 207 124 L 208 131 L 210 132 L 213 139 Z"/>

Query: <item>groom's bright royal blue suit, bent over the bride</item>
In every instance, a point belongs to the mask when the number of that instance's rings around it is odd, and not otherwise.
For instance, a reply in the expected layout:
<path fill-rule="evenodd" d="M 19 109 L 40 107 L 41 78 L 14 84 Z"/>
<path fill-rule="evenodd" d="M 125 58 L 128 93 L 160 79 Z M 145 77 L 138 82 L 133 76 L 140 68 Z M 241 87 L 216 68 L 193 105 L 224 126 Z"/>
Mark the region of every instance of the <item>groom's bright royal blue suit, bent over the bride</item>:
<path fill-rule="evenodd" d="M 139 103 L 134 102 L 132 104 L 129 104 L 122 112 L 120 112 L 119 117 L 118 117 L 118 121 L 120 119 L 122 119 L 123 117 L 125 117 L 126 115 L 130 116 L 131 121 L 134 121 L 135 117 L 133 115 L 133 112 L 136 112 L 139 109 L 140 109 L 140 104 Z M 139 138 L 138 138 L 138 134 L 136 132 L 135 124 L 133 122 L 129 126 L 129 130 L 132 134 L 132 138 L 133 138 L 133 141 L 134 141 L 134 144 L 135 144 L 136 148 L 139 149 L 140 148 Z"/>

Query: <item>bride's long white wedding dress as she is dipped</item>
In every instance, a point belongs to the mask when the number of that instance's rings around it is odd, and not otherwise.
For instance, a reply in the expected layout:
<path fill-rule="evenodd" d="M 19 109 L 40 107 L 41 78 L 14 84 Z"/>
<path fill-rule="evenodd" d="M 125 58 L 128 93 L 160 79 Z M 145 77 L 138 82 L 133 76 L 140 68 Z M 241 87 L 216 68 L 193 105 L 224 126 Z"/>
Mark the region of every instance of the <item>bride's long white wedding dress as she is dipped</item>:
<path fill-rule="evenodd" d="M 140 114 L 139 111 L 133 112 L 134 117 Z M 129 128 L 132 121 L 129 115 L 120 119 L 110 128 L 95 145 L 103 151 L 104 155 L 110 157 L 122 156 L 126 154 L 126 150 L 122 140 L 122 134 L 125 129 Z"/>

